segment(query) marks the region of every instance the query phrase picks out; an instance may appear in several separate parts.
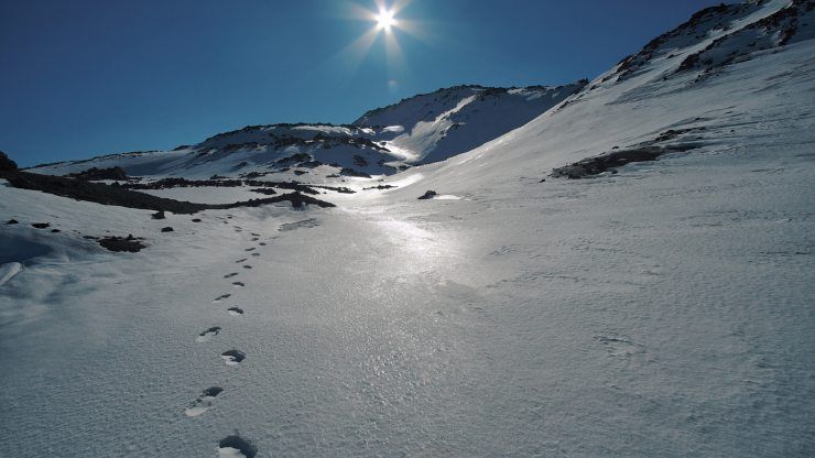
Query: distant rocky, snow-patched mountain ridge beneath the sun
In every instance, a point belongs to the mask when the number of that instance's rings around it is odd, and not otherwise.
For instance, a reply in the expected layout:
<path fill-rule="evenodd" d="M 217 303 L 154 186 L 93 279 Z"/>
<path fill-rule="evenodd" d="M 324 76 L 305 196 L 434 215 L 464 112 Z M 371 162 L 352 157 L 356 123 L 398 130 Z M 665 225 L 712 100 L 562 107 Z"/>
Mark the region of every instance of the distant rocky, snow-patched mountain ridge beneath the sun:
<path fill-rule="evenodd" d="M 30 171 L 67 175 L 119 166 L 129 175 L 149 177 L 203 179 L 251 174 L 308 182 L 389 175 L 479 146 L 525 124 L 583 85 L 585 81 L 510 89 L 459 86 L 369 111 L 351 126 L 249 126 L 173 151 L 111 154 Z"/>

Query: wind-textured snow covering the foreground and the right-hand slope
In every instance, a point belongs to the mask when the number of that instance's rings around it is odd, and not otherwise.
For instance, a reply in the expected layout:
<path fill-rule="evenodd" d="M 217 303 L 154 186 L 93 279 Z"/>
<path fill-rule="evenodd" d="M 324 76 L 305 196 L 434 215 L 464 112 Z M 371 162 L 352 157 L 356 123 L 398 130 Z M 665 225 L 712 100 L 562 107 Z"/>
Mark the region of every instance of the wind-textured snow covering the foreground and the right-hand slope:
<path fill-rule="evenodd" d="M 0 186 L 0 456 L 814 456 L 815 41 L 680 70 L 787 4 L 334 209 Z M 691 149 L 550 175 L 644 144 Z"/>

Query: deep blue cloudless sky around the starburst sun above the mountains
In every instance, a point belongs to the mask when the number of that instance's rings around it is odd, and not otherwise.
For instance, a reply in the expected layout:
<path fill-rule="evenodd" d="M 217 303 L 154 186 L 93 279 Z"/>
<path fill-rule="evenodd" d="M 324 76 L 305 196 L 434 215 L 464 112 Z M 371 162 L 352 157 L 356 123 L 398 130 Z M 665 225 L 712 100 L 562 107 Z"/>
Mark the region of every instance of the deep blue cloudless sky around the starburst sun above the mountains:
<path fill-rule="evenodd" d="M 371 0 L 0 2 L 0 150 L 21 165 L 170 149 L 273 122 L 351 122 L 457 84 L 593 78 L 705 0 L 413 0 L 361 62 Z M 357 66 L 358 64 L 358 66 Z M 356 68 L 355 68 L 356 67 Z M 389 81 L 391 81 L 389 84 Z"/>

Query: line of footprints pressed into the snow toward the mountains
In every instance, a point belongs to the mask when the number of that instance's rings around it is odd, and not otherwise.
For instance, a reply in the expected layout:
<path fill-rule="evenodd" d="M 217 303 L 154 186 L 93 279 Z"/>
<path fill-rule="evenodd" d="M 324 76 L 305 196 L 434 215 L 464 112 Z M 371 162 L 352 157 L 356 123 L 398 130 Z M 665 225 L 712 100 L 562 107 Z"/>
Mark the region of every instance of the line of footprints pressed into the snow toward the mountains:
<path fill-rule="evenodd" d="M 229 216 L 228 218 L 231 218 L 231 216 Z M 224 221 L 224 222 L 228 223 L 228 221 Z M 235 231 L 242 232 L 243 229 L 240 228 L 239 226 L 235 226 Z M 252 239 L 251 239 L 252 242 L 258 242 L 260 240 L 259 233 L 252 232 L 251 235 L 252 235 Z M 267 243 L 258 242 L 258 244 L 260 247 L 265 247 Z M 248 248 L 244 251 L 249 253 L 248 257 L 252 257 L 252 258 L 260 257 L 260 253 L 258 252 L 257 247 Z M 235 263 L 242 264 L 241 266 L 247 270 L 252 269 L 251 265 L 246 264 L 247 261 L 249 261 L 249 258 L 242 258 L 242 259 L 235 261 Z M 238 272 L 231 272 L 231 273 L 224 275 L 225 279 L 232 279 L 235 276 L 238 276 Z M 232 286 L 237 288 L 246 286 L 246 283 L 240 282 L 240 281 L 232 281 L 231 283 L 232 283 Z M 216 304 L 222 303 L 224 301 L 230 298 L 231 296 L 232 295 L 229 293 L 221 294 L 220 296 L 213 299 L 213 303 L 216 303 Z M 243 315 L 243 309 L 237 306 L 228 307 L 226 312 L 231 316 Z M 209 341 L 214 337 L 218 336 L 221 329 L 222 328 L 220 326 L 213 326 L 199 332 L 195 341 L 196 342 Z M 230 367 L 239 366 L 247 358 L 244 352 L 237 350 L 237 349 L 224 351 L 222 353 L 220 353 L 220 357 L 224 360 L 224 362 Z M 195 417 L 195 416 L 204 414 L 207 410 L 209 410 L 209 407 L 213 406 L 216 397 L 218 397 L 218 395 L 222 392 L 224 392 L 224 389 L 220 386 L 209 386 L 208 389 L 204 390 L 200 393 L 200 395 L 198 395 L 198 397 L 196 397 L 195 401 L 193 401 L 187 406 L 187 408 L 184 411 L 184 414 L 186 414 L 189 417 Z M 243 456 L 247 458 L 253 458 L 257 454 L 258 454 L 258 448 L 253 446 L 249 440 L 240 437 L 237 430 L 235 432 L 233 435 L 227 436 L 218 443 L 218 455 L 221 457 Z"/>

